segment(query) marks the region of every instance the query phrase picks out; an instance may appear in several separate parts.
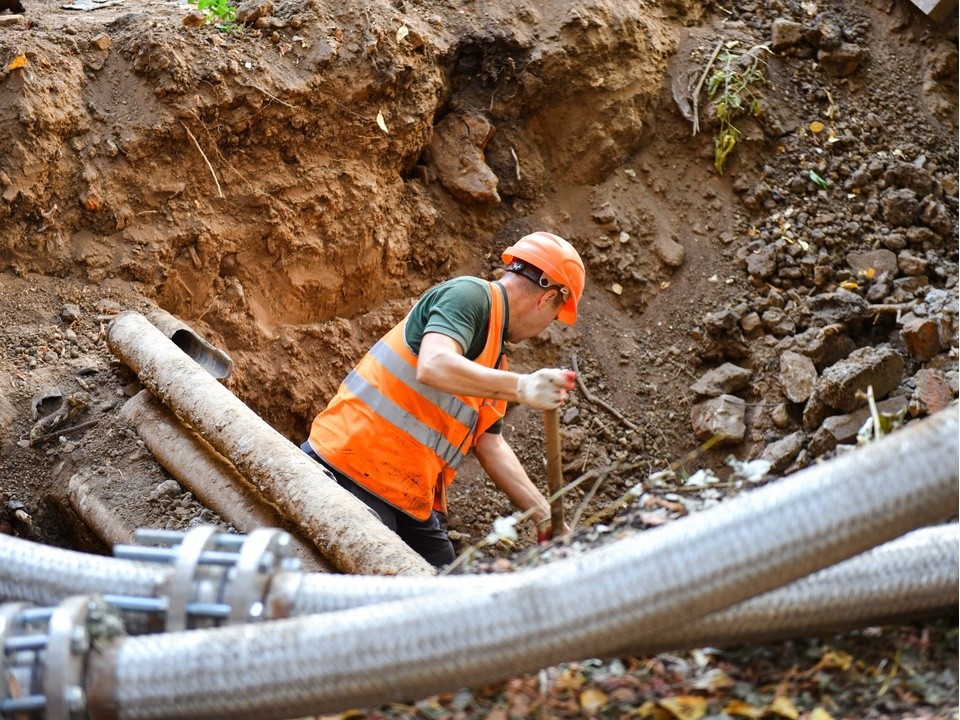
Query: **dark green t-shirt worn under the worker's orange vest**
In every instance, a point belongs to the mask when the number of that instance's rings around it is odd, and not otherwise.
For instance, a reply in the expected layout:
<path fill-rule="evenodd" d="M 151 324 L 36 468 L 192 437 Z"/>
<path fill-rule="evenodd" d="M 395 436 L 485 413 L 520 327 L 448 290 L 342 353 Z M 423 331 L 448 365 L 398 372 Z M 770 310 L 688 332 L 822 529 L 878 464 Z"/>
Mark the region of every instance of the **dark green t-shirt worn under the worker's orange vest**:
<path fill-rule="evenodd" d="M 509 324 L 509 308 L 504 302 L 504 327 Z M 474 277 L 458 277 L 434 285 L 423 294 L 407 320 L 404 338 L 413 352 L 420 352 L 424 334 L 436 332 L 456 340 L 464 357 L 476 360 L 487 342 L 490 321 L 490 293 L 487 284 Z M 501 339 L 501 352 L 502 352 Z M 499 433 L 498 420 L 487 432 Z"/>

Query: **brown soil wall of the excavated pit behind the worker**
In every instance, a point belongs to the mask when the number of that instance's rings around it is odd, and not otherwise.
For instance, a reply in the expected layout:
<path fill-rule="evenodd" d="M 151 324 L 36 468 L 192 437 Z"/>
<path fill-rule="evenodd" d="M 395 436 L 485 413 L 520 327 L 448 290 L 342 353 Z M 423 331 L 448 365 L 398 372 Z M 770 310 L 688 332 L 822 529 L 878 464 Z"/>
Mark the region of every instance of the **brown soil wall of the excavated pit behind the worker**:
<path fill-rule="evenodd" d="M 791 332 L 764 313 L 857 280 L 849 253 L 909 243 L 929 263 L 924 287 L 956 293 L 956 18 L 933 23 L 906 0 L 264 0 L 229 32 L 172 1 L 24 6 L 0 12 L 0 491 L 31 518 L 8 517 L 8 531 L 41 542 L 107 550 L 67 500 L 77 474 L 124 526 L 219 522 L 189 493 L 158 490 L 169 476 L 118 415 L 136 389 L 104 340 L 121 309 L 158 305 L 225 349 L 227 386 L 299 443 L 420 292 L 494 277 L 513 239 L 557 232 L 587 262 L 580 322 L 511 361 L 576 362 L 622 416 L 583 392 L 564 414 L 566 479 L 614 466 L 590 514 L 679 460 L 724 476 L 728 455 L 800 427 L 779 382 Z M 701 93 L 692 133 L 691 89 L 719 41 L 769 44 L 776 18 L 816 32 L 763 55 L 764 113 L 742 121 L 719 174 L 717 120 Z M 831 27 L 864 50 L 855 70 L 815 61 Z M 480 180 L 445 177 L 457 162 Z M 936 186 L 938 209 L 912 235 L 877 211 L 898 162 Z M 783 245 L 790 217 L 812 248 Z M 797 272 L 749 273 L 758 240 L 780 241 L 779 267 Z M 814 280 L 815 267 L 832 270 Z M 718 311 L 735 318 L 722 342 Z M 764 324 L 741 333 L 751 313 Z M 850 332 L 863 346 L 895 330 L 882 318 Z M 753 372 L 747 434 L 691 458 L 690 385 L 724 360 Z M 955 365 L 948 352 L 930 364 Z M 78 392 L 73 423 L 96 424 L 31 445 L 34 406 Z M 505 432 L 542 482 L 540 414 L 514 408 Z M 451 495 L 460 542 L 510 512 L 469 463 Z"/>

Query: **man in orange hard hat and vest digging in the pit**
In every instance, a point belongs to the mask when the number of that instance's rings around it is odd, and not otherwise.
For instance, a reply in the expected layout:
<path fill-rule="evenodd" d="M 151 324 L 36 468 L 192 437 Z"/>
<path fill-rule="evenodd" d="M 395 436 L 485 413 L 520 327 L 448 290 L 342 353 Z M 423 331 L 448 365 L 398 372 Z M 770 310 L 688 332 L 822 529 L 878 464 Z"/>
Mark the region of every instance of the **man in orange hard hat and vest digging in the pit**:
<path fill-rule="evenodd" d="M 498 281 L 457 277 L 428 290 L 341 383 L 301 446 L 435 567 L 456 557 L 440 514 L 470 450 L 530 512 L 538 540 L 550 538 L 550 506 L 503 439 L 502 419 L 508 402 L 559 407 L 576 374 L 510 372 L 504 341 L 576 322 L 583 261 L 548 232 L 520 238 L 502 259 Z"/>

